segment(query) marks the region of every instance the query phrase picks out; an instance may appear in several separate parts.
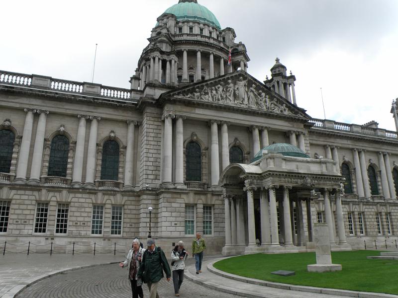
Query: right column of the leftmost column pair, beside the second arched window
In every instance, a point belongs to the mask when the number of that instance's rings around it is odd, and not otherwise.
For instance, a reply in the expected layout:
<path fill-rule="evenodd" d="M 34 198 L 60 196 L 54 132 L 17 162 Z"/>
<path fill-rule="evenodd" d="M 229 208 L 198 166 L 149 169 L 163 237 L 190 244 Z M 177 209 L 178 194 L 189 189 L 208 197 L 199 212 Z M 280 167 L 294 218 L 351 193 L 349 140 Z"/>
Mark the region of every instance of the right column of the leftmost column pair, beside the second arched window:
<path fill-rule="evenodd" d="M 36 128 L 36 138 L 34 140 L 34 149 L 32 157 L 32 167 L 30 168 L 30 178 L 28 184 L 40 184 L 41 165 L 43 164 L 43 147 L 46 132 L 46 122 L 48 111 L 37 110 L 39 122 Z"/>

